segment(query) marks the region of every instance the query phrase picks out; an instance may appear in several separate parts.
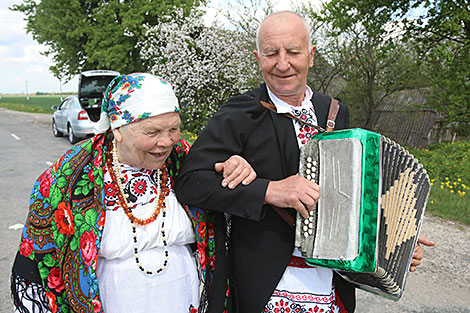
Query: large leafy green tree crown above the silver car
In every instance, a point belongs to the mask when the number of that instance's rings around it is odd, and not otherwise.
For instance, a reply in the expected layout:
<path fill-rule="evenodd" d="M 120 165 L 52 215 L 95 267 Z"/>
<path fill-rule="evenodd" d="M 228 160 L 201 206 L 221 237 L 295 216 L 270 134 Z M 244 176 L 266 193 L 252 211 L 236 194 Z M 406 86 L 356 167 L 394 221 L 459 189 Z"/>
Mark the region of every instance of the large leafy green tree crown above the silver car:
<path fill-rule="evenodd" d="M 12 10 L 26 15 L 27 31 L 47 46 L 51 71 L 60 79 L 89 69 L 122 73 L 146 71 L 137 42 L 145 40 L 143 25 L 182 8 L 186 14 L 202 1 L 193 0 L 23 0 Z"/>

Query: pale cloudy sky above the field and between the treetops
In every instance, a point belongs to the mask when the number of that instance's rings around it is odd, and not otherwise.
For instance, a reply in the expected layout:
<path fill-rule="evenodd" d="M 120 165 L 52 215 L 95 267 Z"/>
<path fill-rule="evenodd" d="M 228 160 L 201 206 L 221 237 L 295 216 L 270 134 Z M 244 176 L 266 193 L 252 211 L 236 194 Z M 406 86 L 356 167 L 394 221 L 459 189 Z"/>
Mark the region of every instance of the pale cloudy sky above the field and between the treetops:
<path fill-rule="evenodd" d="M 217 6 L 217 3 L 223 2 L 224 0 L 213 0 L 212 3 Z M 76 92 L 77 77 L 61 84 L 49 71 L 51 59 L 41 55 L 46 47 L 26 33 L 24 14 L 8 9 L 13 4 L 20 3 L 21 0 L 0 1 L 0 94 L 59 92 L 61 89 L 64 92 Z M 276 10 L 290 8 L 289 1 L 280 0 L 277 3 Z M 209 14 L 210 12 L 211 10 Z"/>

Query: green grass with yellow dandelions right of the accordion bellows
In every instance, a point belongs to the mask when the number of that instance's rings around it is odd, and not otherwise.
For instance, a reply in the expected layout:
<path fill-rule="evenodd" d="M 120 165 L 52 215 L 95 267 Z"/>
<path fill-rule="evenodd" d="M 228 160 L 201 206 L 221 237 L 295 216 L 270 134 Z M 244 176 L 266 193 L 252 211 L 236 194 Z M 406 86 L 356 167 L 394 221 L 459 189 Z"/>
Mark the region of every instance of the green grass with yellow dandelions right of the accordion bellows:
<path fill-rule="evenodd" d="M 470 225 L 470 140 L 408 150 L 431 178 L 426 211 Z"/>

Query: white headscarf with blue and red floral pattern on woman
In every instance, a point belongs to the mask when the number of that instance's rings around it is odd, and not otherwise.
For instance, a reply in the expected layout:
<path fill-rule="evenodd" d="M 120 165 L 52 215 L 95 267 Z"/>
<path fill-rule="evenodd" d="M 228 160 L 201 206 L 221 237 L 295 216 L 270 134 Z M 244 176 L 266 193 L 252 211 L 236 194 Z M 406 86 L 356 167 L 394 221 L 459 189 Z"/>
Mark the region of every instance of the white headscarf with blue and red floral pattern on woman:
<path fill-rule="evenodd" d="M 169 112 L 179 112 L 178 99 L 169 82 L 147 73 L 120 75 L 105 91 L 95 134 Z"/>

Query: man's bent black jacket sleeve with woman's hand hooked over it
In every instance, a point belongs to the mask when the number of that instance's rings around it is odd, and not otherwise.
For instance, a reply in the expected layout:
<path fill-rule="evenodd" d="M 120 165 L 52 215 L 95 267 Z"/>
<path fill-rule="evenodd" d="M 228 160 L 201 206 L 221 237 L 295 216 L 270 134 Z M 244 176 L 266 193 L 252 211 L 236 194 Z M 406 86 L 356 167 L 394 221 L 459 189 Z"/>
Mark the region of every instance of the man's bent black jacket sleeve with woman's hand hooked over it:
<path fill-rule="evenodd" d="M 252 135 L 251 108 L 255 107 L 256 100 L 247 95 L 235 100 L 214 115 L 191 147 L 176 180 L 175 191 L 182 203 L 259 220 L 269 180 L 258 177 L 249 185 L 224 188 L 222 174 L 214 169 L 216 163 L 232 155 L 242 156 L 252 166 L 254 163 L 244 155 L 244 145 Z"/>

